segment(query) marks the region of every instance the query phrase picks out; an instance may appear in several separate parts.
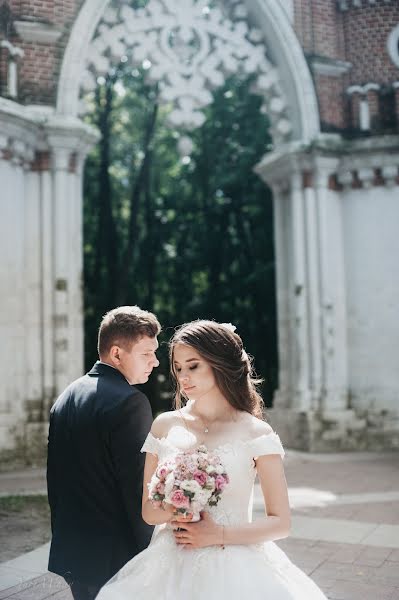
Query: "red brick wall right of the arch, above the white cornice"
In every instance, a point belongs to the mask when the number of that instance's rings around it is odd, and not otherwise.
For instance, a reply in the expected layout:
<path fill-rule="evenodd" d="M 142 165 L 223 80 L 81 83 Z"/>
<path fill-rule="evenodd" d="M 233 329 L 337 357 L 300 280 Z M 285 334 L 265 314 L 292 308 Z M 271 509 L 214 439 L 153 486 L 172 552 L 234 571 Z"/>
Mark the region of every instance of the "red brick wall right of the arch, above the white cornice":
<path fill-rule="evenodd" d="M 392 84 L 399 80 L 399 69 L 392 63 L 387 39 L 399 23 L 399 2 L 376 0 L 374 5 L 341 12 L 335 0 L 294 0 L 295 30 L 305 55 L 322 56 L 350 62 L 353 67 L 347 75 L 332 77 L 314 73 L 319 100 L 320 119 L 325 130 L 356 128 L 353 118 L 356 107 L 346 90 L 349 85 L 366 83 Z M 378 129 L 378 98 L 371 98 L 371 117 Z M 397 104 L 399 122 L 399 105 Z"/>

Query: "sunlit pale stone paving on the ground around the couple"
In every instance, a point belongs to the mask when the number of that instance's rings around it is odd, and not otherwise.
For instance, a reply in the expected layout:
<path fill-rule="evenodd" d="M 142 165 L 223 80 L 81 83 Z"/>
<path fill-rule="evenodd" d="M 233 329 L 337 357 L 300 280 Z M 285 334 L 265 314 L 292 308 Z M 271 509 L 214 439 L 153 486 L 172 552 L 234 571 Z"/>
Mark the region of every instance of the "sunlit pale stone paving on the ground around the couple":
<path fill-rule="evenodd" d="M 291 451 L 286 473 L 293 532 L 280 547 L 330 600 L 399 600 L 399 454 Z M 43 489 L 41 470 L 0 474 L 0 494 Z M 257 487 L 255 517 L 261 511 Z M 63 580 L 44 573 L 47 553 L 0 564 L 0 600 L 71 600 Z"/>

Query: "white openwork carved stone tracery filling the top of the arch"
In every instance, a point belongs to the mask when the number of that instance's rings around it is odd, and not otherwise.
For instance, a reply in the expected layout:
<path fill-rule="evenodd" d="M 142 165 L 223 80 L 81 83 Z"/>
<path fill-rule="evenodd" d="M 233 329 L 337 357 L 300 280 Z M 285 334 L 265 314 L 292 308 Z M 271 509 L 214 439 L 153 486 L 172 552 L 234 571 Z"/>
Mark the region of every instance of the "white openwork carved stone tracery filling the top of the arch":
<path fill-rule="evenodd" d="M 98 76 L 121 60 L 143 67 L 150 81 L 159 82 L 161 102 L 173 107 L 170 124 L 186 130 L 202 125 L 201 109 L 212 102 L 211 90 L 229 75 L 256 73 L 254 91 L 264 97 L 275 140 L 290 136 L 277 69 L 239 0 L 149 0 L 137 10 L 115 2 L 91 42 L 82 93 L 93 91 Z M 84 102 L 81 108 L 86 112 Z"/>

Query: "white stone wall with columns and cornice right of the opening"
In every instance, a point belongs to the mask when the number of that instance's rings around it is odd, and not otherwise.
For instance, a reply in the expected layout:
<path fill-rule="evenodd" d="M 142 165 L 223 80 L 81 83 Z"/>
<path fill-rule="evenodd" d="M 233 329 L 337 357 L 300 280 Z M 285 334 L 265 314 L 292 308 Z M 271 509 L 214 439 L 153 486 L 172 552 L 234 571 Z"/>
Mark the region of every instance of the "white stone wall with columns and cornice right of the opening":
<path fill-rule="evenodd" d="M 399 138 L 321 136 L 266 155 L 288 446 L 399 447 Z"/>

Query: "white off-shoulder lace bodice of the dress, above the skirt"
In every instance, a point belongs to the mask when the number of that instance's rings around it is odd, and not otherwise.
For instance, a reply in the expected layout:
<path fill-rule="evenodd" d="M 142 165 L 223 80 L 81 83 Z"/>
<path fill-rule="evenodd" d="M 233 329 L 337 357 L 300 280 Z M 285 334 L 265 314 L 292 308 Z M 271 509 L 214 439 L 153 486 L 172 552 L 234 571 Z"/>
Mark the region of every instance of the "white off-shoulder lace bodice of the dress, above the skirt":
<path fill-rule="evenodd" d="M 174 426 L 162 439 L 149 433 L 142 452 L 156 454 L 161 462 L 182 450 L 195 449 L 196 446 L 198 443 L 192 433 L 182 426 Z M 283 457 L 284 450 L 279 436 L 272 432 L 246 441 L 237 439 L 208 449 L 220 456 L 230 479 L 219 504 L 209 508 L 210 514 L 224 525 L 252 521 L 255 459 L 267 454 L 279 454 Z"/>

